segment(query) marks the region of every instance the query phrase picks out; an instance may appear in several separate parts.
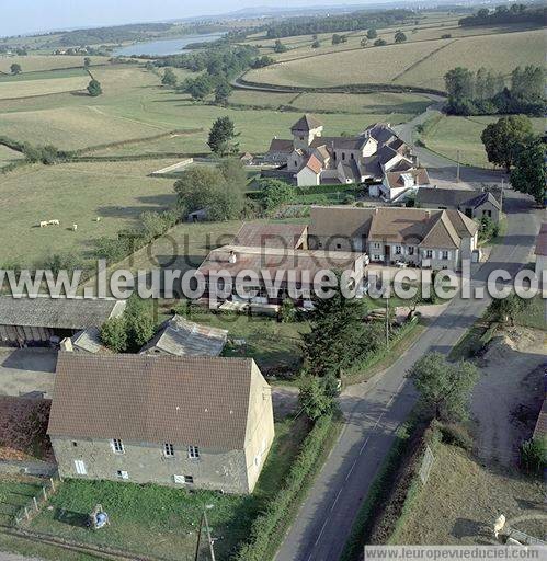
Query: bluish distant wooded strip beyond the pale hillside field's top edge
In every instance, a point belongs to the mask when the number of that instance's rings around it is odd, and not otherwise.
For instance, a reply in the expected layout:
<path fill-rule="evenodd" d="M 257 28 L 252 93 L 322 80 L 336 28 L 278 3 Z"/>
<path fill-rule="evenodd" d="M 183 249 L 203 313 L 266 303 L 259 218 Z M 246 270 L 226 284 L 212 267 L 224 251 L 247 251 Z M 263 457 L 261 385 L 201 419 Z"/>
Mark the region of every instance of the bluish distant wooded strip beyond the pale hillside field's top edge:
<path fill-rule="evenodd" d="M 292 18 L 269 25 L 266 36 L 280 38 L 293 35 L 358 31 L 368 27 L 389 27 L 400 24 L 409 18 L 415 18 L 411 10 L 360 11 L 329 18 Z"/>

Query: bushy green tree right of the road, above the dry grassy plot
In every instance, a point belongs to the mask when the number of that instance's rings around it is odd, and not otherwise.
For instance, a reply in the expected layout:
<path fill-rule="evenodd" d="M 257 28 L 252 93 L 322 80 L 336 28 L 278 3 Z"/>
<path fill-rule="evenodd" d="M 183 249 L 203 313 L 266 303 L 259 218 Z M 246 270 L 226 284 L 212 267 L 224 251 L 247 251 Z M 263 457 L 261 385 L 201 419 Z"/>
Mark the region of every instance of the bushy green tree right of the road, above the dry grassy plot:
<path fill-rule="evenodd" d="M 412 366 L 408 377 L 420 393 L 421 407 L 435 419 L 459 421 L 468 416 L 471 390 L 479 377 L 472 363 L 448 363 L 443 354 L 430 353 Z"/>

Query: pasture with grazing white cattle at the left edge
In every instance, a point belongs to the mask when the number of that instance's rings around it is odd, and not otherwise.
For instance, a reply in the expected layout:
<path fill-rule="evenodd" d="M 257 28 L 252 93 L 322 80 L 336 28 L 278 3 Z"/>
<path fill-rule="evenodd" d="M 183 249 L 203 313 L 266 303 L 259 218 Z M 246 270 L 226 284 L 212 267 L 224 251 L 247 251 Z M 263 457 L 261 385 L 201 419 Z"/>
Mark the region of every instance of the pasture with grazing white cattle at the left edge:
<path fill-rule="evenodd" d="M 16 259 L 29 264 L 65 251 L 86 255 L 93 239 L 114 236 L 144 210 L 162 210 L 174 202 L 172 179 L 148 176 L 174 162 L 36 164 L 0 175 L 2 239 L 9 240 L 0 247 L 0 263 Z M 60 227 L 37 227 L 52 219 L 60 220 Z"/>

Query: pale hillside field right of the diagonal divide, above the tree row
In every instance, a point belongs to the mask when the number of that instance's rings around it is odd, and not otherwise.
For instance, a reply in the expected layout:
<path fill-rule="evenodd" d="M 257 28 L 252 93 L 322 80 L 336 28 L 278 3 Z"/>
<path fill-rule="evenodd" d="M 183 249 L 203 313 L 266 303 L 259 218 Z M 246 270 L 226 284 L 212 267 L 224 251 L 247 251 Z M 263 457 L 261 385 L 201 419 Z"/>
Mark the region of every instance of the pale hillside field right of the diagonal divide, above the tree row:
<path fill-rule="evenodd" d="M 396 82 L 444 89 L 444 73 L 457 66 L 471 70 L 483 66 L 509 76 L 517 66 L 543 66 L 544 61 L 545 30 L 467 37 L 449 43 Z"/>

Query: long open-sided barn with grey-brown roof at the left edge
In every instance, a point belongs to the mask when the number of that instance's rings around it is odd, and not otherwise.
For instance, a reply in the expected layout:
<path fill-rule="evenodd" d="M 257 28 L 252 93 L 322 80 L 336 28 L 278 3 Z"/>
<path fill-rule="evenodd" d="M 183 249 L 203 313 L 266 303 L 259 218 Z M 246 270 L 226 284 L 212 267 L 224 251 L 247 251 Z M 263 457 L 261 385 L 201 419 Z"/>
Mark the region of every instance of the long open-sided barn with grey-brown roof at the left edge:
<path fill-rule="evenodd" d="M 0 344 L 41 345 L 101 327 L 119 317 L 125 301 L 114 298 L 0 297 Z M 54 337 L 54 339 L 52 339 Z"/>

